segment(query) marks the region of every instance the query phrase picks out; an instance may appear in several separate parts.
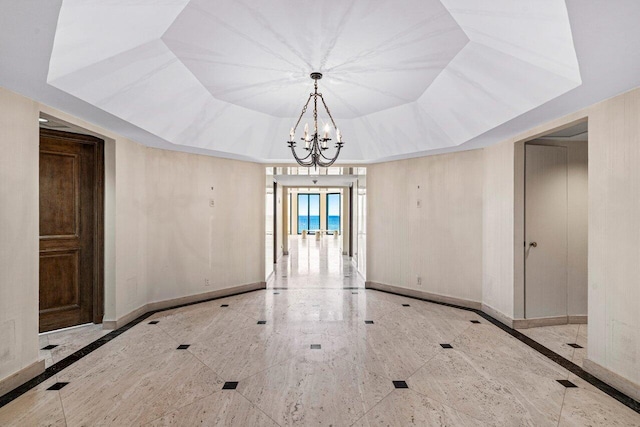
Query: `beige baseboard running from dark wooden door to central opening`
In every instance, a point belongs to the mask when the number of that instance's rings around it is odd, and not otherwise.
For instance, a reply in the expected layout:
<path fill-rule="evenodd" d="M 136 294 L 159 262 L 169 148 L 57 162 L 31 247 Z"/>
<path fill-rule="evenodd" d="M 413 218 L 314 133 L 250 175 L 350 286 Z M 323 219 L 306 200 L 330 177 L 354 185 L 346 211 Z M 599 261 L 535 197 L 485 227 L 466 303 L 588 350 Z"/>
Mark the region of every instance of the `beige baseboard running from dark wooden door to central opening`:
<path fill-rule="evenodd" d="M 267 287 L 266 282 L 249 283 L 247 285 L 234 286 L 232 288 L 218 289 L 215 291 L 205 292 L 202 294 L 188 295 L 185 297 L 172 298 L 163 301 L 150 302 L 142 307 L 119 317 L 116 320 L 104 320 L 102 322 L 103 329 L 118 329 L 132 320 L 137 319 L 145 313 L 155 310 L 162 310 L 165 308 L 171 308 L 183 304 L 191 304 L 194 302 L 206 301 L 214 298 L 222 298 L 229 295 L 235 295 L 243 292 L 257 291 L 259 289 L 265 289 Z"/>

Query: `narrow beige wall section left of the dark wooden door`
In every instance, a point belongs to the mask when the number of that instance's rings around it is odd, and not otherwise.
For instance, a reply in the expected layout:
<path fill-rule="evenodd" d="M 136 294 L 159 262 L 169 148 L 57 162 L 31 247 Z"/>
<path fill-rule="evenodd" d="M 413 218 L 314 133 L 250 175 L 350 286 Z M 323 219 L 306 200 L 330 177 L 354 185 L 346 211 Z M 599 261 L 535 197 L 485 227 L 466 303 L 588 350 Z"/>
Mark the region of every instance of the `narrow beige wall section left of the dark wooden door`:
<path fill-rule="evenodd" d="M 38 360 L 38 140 L 37 103 L 0 88 L 0 380 Z"/>

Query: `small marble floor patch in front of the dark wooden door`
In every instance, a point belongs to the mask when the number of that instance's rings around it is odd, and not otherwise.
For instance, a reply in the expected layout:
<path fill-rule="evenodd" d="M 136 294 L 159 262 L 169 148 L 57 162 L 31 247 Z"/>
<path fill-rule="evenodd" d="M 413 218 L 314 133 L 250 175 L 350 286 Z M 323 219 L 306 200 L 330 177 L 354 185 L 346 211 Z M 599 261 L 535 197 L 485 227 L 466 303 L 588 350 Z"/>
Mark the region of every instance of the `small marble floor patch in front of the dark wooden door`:
<path fill-rule="evenodd" d="M 93 323 L 44 332 L 38 337 L 40 359 L 44 359 L 45 367 L 48 368 L 109 332 L 111 331 L 102 329 L 102 325 Z"/>

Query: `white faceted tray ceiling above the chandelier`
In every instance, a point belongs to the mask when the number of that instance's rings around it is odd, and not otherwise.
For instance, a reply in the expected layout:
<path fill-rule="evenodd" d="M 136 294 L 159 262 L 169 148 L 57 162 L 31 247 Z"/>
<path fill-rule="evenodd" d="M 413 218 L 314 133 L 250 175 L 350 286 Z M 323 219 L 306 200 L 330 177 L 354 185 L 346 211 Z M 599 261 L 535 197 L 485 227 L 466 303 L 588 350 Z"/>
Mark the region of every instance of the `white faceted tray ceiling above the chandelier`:
<path fill-rule="evenodd" d="M 1 62 L 37 70 L 0 65 L 0 84 L 147 145 L 262 162 L 291 161 L 312 71 L 353 163 L 483 146 L 640 83 L 633 0 L 5 3 Z"/>

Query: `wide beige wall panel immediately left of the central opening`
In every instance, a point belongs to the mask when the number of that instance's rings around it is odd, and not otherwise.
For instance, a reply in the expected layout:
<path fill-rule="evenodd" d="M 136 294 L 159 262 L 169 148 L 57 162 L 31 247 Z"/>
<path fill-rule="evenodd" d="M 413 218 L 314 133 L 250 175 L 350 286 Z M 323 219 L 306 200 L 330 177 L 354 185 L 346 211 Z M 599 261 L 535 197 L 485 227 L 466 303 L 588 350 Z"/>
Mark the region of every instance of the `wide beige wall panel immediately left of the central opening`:
<path fill-rule="evenodd" d="M 145 176 L 149 302 L 264 281 L 263 166 L 147 148 Z"/>

